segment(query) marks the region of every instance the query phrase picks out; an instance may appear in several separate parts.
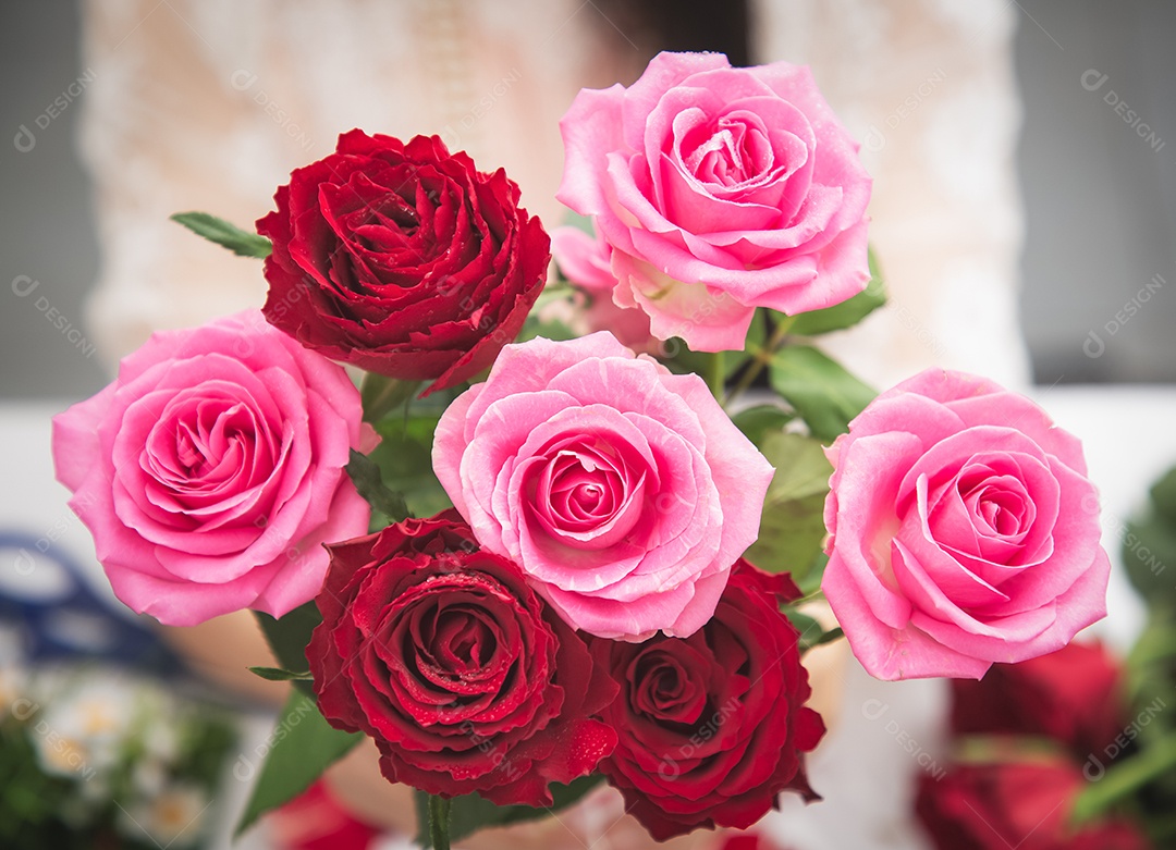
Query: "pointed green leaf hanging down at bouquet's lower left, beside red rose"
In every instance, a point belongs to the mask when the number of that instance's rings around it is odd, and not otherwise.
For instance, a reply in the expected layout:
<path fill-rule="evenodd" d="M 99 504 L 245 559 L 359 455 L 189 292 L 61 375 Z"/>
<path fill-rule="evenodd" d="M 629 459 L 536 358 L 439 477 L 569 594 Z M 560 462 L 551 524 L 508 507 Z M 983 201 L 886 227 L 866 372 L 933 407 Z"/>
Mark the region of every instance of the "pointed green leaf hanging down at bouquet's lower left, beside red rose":
<path fill-rule="evenodd" d="M 302 794 L 322 776 L 322 771 L 347 755 L 362 738 L 360 732 L 342 732 L 330 727 L 319 714 L 314 700 L 299 690 L 290 690 L 267 742 L 269 751 L 236 825 L 236 835 L 249 829 L 265 812 Z M 254 765 L 241 756 L 233 775 L 242 778 L 246 767 L 252 770 Z"/>

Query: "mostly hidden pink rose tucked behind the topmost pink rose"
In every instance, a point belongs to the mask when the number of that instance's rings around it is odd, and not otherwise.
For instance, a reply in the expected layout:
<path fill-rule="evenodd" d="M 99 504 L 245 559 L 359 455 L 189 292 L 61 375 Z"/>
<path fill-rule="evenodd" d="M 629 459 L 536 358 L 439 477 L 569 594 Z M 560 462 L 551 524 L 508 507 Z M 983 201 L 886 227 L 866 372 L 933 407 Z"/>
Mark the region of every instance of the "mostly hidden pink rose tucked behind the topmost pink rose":
<path fill-rule="evenodd" d="M 580 313 L 588 333 L 608 330 L 637 354 L 661 354 L 662 342 L 650 336 L 644 310 L 613 301 L 616 277 L 609 267 L 609 250 L 604 240 L 593 239 L 579 227 L 552 230 L 552 256 L 563 276 L 587 296 Z"/>

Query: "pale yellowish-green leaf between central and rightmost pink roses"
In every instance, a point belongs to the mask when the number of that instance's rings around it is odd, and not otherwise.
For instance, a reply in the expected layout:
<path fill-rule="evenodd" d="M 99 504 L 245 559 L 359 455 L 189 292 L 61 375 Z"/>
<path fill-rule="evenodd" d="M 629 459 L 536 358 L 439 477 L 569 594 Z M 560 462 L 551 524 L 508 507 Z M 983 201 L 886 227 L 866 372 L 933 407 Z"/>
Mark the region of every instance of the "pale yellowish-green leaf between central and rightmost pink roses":
<path fill-rule="evenodd" d="M 833 467 L 821 444 L 800 434 L 769 434 L 760 450 L 776 474 L 763 502 L 760 536 L 747 560 L 769 573 L 791 573 L 797 584 L 810 587 L 824 541 L 824 498 Z"/>

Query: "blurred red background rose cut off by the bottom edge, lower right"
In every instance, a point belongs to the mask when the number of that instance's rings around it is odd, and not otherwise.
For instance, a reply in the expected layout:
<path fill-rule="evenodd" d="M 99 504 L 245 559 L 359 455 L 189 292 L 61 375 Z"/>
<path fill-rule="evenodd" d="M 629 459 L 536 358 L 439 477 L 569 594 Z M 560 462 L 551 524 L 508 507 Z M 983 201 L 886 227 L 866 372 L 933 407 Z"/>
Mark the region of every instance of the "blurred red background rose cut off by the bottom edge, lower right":
<path fill-rule="evenodd" d="M 1069 825 L 1084 781 L 1065 761 L 961 764 L 920 777 L 915 812 L 940 850 L 1148 850 L 1122 819 Z"/>

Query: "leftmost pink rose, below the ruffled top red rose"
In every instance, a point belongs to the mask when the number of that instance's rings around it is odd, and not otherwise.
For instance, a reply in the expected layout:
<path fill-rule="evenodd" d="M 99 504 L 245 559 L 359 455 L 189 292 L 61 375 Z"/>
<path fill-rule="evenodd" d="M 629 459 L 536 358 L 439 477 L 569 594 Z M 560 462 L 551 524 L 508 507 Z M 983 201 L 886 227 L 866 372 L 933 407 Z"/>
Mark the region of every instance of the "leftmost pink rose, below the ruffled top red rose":
<path fill-rule="evenodd" d="M 258 310 L 155 334 L 53 420 L 58 480 L 115 595 L 169 625 L 313 598 L 322 543 L 367 531 L 343 466 L 375 441 L 343 369 Z"/>

